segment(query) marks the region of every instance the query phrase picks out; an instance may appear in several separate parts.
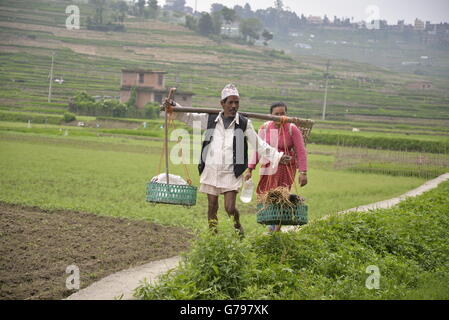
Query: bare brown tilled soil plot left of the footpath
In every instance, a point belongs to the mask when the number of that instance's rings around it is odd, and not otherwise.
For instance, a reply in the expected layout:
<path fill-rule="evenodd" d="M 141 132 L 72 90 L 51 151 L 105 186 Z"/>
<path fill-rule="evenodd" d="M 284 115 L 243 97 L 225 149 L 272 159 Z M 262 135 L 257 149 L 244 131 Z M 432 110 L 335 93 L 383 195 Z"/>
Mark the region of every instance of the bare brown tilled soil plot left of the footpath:
<path fill-rule="evenodd" d="M 63 299 L 69 265 L 80 289 L 117 271 L 178 255 L 189 230 L 0 202 L 0 299 Z"/>

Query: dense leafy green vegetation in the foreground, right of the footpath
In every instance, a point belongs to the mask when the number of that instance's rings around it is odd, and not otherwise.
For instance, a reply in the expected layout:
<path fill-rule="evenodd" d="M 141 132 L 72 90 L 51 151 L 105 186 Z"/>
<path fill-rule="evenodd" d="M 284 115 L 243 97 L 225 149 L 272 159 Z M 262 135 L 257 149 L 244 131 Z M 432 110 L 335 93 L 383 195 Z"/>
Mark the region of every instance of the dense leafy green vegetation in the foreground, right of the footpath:
<path fill-rule="evenodd" d="M 389 210 L 348 213 L 298 232 L 202 234 L 142 299 L 449 299 L 449 182 Z M 367 267 L 380 285 L 366 286 Z"/>

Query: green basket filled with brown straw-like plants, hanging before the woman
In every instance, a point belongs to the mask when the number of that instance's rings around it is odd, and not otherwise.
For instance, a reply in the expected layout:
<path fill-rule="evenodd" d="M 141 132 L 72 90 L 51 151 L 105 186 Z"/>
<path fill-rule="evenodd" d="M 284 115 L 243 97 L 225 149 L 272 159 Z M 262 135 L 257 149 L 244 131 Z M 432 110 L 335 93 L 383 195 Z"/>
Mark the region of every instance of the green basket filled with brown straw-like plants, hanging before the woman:
<path fill-rule="evenodd" d="M 299 226 L 307 224 L 308 207 L 303 204 L 295 206 L 281 206 L 270 204 L 264 207 L 257 205 L 257 223 L 266 225 Z"/>

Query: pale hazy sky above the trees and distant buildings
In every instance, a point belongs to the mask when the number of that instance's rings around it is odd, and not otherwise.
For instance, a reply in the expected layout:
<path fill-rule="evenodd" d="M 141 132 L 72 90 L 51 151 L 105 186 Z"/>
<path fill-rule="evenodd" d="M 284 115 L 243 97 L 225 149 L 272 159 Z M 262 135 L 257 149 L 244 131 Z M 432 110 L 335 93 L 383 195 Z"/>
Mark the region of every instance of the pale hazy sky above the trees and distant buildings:
<path fill-rule="evenodd" d="M 231 8 L 249 3 L 253 10 L 274 6 L 274 0 L 186 0 L 186 4 L 195 8 L 195 1 L 198 11 L 209 11 L 212 3 L 222 3 Z M 387 20 L 389 24 L 402 19 L 412 23 L 417 17 L 433 23 L 449 22 L 449 0 L 283 0 L 283 3 L 297 14 L 327 14 L 331 20 L 334 15 L 354 17 L 356 21 L 368 20 L 378 12 L 380 19 Z M 377 6 L 378 10 L 367 12 L 370 6 Z"/>

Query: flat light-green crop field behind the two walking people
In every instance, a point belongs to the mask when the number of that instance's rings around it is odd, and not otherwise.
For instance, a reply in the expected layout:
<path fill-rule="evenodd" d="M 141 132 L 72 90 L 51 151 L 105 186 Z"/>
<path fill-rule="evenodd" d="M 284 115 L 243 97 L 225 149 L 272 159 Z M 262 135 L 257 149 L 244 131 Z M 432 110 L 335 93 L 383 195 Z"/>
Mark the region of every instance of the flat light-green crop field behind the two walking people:
<path fill-rule="evenodd" d="M 21 124 L 24 132 L 0 130 L 0 201 L 145 219 L 165 225 L 206 227 L 204 194 L 198 194 L 197 205 L 192 208 L 145 201 L 145 185 L 158 173 L 161 140 L 82 135 L 76 132 L 85 129 L 79 128 L 69 129 L 69 135 L 65 136 L 65 129 L 46 127 L 30 133 L 26 132 L 25 124 Z M 53 130 L 53 134 L 48 130 Z M 425 181 L 336 170 L 331 149 L 310 146 L 309 150 L 313 150 L 309 155 L 309 184 L 302 189 L 298 187 L 298 191 L 307 200 L 311 220 L 401 195 Z M 189 165 L 189 171 L 194 185 L 198 185 L 196 165 Z M 185 176 L 179 165 L 172 165 L 171 172 Z M 257 182 L 258 174 L 254 177 Z M 248 205 L 239 201 L 238 207 L 243 224 L 250 229 L 258 228 L 255 201 Z M 226 217 L 220 208 L 219 219 Z"/>

